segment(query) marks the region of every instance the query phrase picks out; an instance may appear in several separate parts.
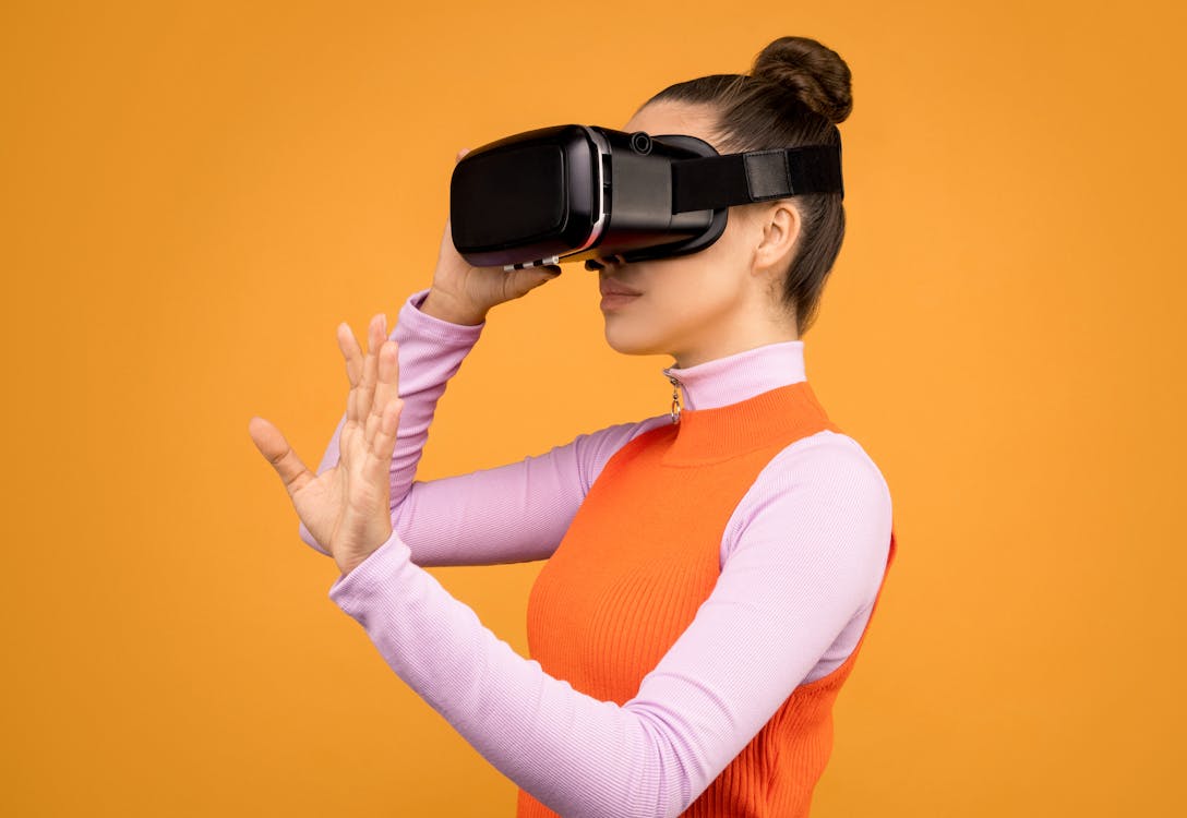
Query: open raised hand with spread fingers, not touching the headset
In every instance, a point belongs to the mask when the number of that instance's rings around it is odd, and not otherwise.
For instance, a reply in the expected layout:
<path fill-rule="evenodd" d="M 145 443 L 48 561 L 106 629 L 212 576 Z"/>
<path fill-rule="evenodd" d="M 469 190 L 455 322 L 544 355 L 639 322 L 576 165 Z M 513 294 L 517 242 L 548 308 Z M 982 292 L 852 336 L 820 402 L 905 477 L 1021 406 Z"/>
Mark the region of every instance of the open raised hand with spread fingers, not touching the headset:
<path fill-rule="evenodd" d="M 256 449 L 280 475 L 305 527 L 329 530 L 329 548 L 338 569 L 349 573 L 392 535 L 389 470 L 404 400 L 399 397 L 398 344 L 387 340 L 387 319 L 369 325 L 363 357 L 354 332 L 338 325 L 338 347 L 347 361 L 350 394 L 347 420 L 338 437 L 339 474 L 315 475 L 288 445 L 280 430 L 252 418 L 248 432 Z M 377 353 L 376 353 L 377 347 Z M 328 487 L 334 490 L 328 490 Z M 319 538 L 320 539 L 320 538 Z"/>

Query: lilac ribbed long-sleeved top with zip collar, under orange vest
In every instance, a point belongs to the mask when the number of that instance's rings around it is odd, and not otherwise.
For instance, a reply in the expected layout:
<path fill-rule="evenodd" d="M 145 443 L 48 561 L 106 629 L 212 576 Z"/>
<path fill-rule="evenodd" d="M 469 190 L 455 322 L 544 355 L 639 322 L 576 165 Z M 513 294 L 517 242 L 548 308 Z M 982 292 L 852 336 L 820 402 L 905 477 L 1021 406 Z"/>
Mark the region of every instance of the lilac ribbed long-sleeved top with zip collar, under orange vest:
<path fill-rule="evenodd" d="M 334 582 L 330 600 L 483 757 L 552 810 L 678 816 L 798 685 L 853 649 L 887 564 L 888 486 L 846 435 L 825 430 L 788 445 L 725 527 L 713 604 L 634 699 L 595 699 L 516 653 L 424 567 L 547 559 L 610 456 L 672 423 L 671 413 L 578 435 L 507 465 L 414 480 L 437 400 L 485 325 L 421 312 L 427 294 L 408 297 L 389 335 L 405 401 L 391 468 L 392 537 Z M 804 342 L 662 373 L 665 387 L 669 376 L 679 381 L 683 412 L 725 406 L 805 380 Z M 318 473 L 337 463 L 344 420 Z M 304 525 L 299 533 L 328 553 Z"/>

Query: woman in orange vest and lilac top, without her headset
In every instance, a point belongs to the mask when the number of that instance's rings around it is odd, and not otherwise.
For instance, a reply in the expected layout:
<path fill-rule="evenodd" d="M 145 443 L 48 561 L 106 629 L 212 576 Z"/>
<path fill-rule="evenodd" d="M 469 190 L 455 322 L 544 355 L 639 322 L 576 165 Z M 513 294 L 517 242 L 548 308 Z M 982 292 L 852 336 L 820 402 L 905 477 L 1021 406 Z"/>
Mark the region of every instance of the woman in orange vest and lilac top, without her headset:
<path fill-rule="evenodd" d="M 673 85 L 623 129 L 722 153 L 839 144 L 850 107 L 840 57 L 785 37 L 753 76 Z M 894 557 L 887 484 L 804 373 L 843 232 L 839 194 L 793 196 L 731 208 L 699 253 L 586 262 L 603 293 L 635 293 L 603 296 L 610 345 L 675 359 L 672 411 L 424 482 L 437 399 L 488 311 L 559 273 L 471 268 L 446 224 L 389 340 L 376 316 L 363 356 L 338 328 L 351 389 L 318 475 L 253 419 L 301 538 L 342 572 L 330 598 L 520 786 L 521 818 L 807 814 Z M 423 570 L 535 559 L 532 659 Z"/>

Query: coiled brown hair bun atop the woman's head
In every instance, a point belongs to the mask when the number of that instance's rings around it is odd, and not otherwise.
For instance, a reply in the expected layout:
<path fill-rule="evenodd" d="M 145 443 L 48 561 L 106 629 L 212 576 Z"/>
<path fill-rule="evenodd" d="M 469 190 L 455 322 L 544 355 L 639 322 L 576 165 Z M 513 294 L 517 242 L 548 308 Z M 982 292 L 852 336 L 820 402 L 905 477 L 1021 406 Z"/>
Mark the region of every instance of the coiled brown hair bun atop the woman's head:
<path fill-rule="evenodd" d="M 810 37 L 780 37 L 755 57 L 751 74 L 787 87 L 830 122 L 844 122 L 853 109 L 849 65 Z"/>

